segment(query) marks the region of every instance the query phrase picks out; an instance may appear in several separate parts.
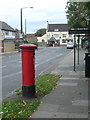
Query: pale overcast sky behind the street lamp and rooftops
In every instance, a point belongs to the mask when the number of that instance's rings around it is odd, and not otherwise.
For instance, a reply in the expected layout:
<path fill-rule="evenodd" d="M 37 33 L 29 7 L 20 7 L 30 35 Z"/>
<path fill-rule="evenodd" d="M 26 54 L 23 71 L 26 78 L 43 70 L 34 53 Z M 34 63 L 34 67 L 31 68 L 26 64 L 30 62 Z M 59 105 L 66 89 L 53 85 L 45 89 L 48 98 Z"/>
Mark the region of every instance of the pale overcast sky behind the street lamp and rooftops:
<path fill-rule="evenodd" d="M 2 0 L 0 1 L 0 21 L 8 23 L 13 28 L 20 29 L 20 8 L 23 9 L 23 30 L 25 19 L 27 33 L 46 28 L 49 23 L 67 23 L 65 7 L 68 0 Z"/>

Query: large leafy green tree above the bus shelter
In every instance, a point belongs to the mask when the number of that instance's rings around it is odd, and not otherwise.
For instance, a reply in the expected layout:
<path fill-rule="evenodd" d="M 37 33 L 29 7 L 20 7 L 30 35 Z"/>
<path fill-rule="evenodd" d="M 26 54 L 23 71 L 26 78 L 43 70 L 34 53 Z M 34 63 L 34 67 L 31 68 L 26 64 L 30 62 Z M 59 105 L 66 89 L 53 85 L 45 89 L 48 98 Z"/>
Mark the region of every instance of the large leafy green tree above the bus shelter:
<path fill-rule="evenodd" d="M 85 28 L 90 15 L 90 2 L 67 2 L 68 25 L 72 28 Z"/>

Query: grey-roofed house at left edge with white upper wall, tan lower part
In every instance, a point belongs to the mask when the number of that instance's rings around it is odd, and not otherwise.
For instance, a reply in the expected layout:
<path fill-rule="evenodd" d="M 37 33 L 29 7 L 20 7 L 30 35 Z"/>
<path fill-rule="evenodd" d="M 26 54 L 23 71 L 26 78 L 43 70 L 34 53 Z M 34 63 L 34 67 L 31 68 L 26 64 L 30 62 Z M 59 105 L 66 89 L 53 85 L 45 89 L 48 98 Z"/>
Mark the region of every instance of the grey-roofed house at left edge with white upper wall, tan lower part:
<path fill-rule="evenodd" d="M 2 52 L 15 50 L 15 32 L 7 23 L 0 21 L 0 47 Z"/>

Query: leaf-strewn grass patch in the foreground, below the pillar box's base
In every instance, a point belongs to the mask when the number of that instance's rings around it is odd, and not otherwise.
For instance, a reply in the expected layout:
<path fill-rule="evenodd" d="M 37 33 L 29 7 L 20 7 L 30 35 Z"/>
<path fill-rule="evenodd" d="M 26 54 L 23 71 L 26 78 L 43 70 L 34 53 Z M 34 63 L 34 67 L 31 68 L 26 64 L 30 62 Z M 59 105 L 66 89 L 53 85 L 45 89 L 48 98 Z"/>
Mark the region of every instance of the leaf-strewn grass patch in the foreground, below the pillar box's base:
<path fill-rule="evenodd" d="M 28 118 L 38 107 L 40 101 L 11 100 L 2 104 L 2 118 Z"/>

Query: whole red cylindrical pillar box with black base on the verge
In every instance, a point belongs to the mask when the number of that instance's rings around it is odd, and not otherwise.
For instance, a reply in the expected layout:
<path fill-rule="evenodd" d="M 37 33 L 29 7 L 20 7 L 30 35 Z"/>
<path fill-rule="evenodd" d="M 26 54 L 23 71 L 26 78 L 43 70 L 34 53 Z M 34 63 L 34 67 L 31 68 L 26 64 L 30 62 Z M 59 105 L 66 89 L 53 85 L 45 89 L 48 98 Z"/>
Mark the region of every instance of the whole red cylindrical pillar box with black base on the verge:
<path fill-rule="evenodd" d="M 23 44 L 22 49 L 22 96 L 35 97 L 34 56 L 36 45 Z"/>

